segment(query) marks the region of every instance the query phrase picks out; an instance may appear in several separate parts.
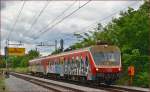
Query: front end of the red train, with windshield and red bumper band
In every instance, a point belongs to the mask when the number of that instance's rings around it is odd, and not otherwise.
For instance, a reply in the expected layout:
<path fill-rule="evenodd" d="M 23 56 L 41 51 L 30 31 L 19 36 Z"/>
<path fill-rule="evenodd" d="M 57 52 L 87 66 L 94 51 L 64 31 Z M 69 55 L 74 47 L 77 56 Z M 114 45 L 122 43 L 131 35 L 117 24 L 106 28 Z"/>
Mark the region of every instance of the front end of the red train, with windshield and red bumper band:
<path fill-rule="evenodd" d="M 96 81 L 111 84 L 119 79 L 121 72 L 121 53 L 118 47 L 96 45 L 91 48 L 95 64 Z"/>

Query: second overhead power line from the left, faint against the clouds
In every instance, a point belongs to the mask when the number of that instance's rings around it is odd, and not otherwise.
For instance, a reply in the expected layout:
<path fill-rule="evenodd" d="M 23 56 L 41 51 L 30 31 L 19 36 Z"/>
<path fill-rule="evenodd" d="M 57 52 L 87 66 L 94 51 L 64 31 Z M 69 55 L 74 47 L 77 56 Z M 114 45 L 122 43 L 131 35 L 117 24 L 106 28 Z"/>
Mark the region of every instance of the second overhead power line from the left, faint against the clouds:
<path fill-rule="evenodd" d="M 31 30 L 31 29 L 33 28 L 33 26 L 37 23 L 39 17 L 42 15 L 42 13 L 44 12 L 44 10 L 48 7 L 49 3 L 50 3 L 50 1 L 47 1 L 47 3 L 46 3 L 46 4 L 44 5 L 44 7 L 41 9 L 41 11 L 40 11 L 40 13 L 38 14 L 38 16 L 37 16 L 37 17 L 35 18 L 35 20 L 32 22 L 32 24 L 31 24 L 30 28 L 28 29 L 28 31 Z M 26 33 L 26 31 L 25 31 L 24 33 Z M 23 34 L 24 34 L 24 33 L 23 33 Z"/>

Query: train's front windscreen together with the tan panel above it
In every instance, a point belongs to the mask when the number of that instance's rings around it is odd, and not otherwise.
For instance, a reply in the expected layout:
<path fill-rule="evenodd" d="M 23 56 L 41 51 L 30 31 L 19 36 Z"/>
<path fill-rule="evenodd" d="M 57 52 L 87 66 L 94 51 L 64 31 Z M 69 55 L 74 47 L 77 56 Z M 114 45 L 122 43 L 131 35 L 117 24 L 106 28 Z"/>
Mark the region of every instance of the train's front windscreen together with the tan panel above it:
<path fill-rule="evenodd" d="M 97 45 L 90 48 L 96 65 L 120 65 L 121 52 L 116 46 Z"/>

